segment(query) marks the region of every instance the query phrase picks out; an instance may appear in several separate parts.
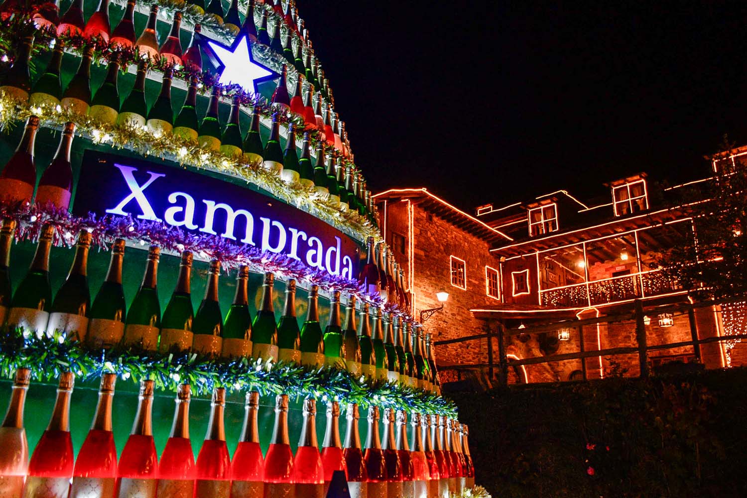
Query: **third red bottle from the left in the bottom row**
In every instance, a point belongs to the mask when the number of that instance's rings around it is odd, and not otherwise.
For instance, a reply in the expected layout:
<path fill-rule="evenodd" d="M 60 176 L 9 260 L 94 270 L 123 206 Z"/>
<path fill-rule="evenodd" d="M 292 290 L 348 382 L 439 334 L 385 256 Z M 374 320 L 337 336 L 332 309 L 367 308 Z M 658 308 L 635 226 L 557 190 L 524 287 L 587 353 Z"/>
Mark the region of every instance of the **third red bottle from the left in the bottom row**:
<path fill-rule="evenodd" d="M 116 373 L 101 376 L 99 403 L 96 405 L 93 424 L 78 452 L 78 458 L 75 459 L 70 498 L 114 497 L 117 448 L 114 446 L 114 433 L 111 429 L 111 402 L 114 400 L 115 382 Z"/>

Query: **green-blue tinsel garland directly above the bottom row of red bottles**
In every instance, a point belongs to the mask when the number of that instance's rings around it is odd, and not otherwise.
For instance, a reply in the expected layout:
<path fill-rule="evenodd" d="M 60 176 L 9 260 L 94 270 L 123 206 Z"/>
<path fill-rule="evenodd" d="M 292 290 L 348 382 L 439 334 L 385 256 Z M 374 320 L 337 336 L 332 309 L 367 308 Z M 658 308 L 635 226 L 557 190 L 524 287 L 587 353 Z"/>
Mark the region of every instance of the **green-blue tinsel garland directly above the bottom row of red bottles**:
<path fill-rule="evenodd" d="M 179 384 L 187 383 L 197 394 L 226 387 L 229 391 L 293 393 L 358 403 L 362 408 L 378 405 L 456 417 L 456 405 L 449 399 L 382 380 L 356 378 L 346 370 L 272 364 L 251 358 L 229 360 L 194 353 L 152 352 L 137 346 L 93 350 L 65 340 L 60 334 L 48 337 L 4 329 L 0 332 L 0 376 L 10 379 L 20 367 L 30 368 L 34 379 L 40 381 L 52 381 L 63 372 L 75 373 L 83 380 L 113 372 L 134 382 L 152 379 L 156 387 L 164 390 L 176 390 Z"/>

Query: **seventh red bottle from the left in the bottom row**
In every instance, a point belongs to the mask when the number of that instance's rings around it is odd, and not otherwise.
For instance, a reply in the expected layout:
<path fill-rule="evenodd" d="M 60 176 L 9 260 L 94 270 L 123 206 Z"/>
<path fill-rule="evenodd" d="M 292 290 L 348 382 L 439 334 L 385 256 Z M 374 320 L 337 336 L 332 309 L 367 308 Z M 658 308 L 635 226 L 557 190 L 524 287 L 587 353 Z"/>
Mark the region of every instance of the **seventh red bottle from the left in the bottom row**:
<path fill-rule="evenodd" d="M 264 496 L 264 457 L 259 446 L 258 411 L 259 393 L 251 391 L 247 393 L 244 426 L 231 462 L 231 498 Z"/>

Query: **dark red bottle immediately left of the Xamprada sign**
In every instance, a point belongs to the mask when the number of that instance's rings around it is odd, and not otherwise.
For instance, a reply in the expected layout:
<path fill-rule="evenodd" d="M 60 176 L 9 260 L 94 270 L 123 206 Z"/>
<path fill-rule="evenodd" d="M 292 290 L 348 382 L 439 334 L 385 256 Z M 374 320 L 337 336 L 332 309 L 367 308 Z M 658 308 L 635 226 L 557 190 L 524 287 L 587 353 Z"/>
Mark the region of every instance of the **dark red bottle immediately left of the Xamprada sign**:
<path fill-rule="evenodd" d="M 70 205 L 72 192 L 72 166 L 70 166 L 70 147 L 75 135 L 75 123 L 66 122 L 62 129 L 60 145 L 55 158 L 42 173 L 37 187 L 36 203 L 40 206 L 52 205 L 55 209 L 66 211 Z"/>

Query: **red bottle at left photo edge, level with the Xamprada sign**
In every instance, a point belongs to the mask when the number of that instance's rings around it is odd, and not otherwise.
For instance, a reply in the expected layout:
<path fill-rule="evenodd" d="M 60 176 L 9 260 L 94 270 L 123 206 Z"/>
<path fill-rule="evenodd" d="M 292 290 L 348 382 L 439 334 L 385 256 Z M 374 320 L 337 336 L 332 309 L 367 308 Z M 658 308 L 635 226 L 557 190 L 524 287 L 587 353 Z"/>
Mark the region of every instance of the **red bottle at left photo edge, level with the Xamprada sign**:
<path fill-rule="evenodd" d="M 34 185 L 37 183 L 37 168 L 34 166 L 34 141 L 39 129 L 39 118 L 28 116 L 21 141 L 16 152 L 7 161 L 0 173 L 0 200 L 24 204 L 31 202 Z"/>

